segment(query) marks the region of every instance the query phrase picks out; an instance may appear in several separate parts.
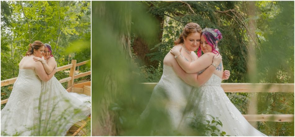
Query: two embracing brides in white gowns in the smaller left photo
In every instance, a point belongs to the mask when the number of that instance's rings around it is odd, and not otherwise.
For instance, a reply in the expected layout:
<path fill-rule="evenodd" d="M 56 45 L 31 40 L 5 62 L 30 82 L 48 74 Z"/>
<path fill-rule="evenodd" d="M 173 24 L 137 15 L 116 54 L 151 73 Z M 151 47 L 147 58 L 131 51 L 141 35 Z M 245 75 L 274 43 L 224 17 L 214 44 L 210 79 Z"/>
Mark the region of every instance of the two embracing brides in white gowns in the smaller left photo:
<path fill-rule="evenodd" d="M 90 115 L 91 97 L 67 92 L 54 77 L 56 72 L 51 46 L 41 41 L 29 44 L 1 110 L 1 136 L 64 136 Z"/>

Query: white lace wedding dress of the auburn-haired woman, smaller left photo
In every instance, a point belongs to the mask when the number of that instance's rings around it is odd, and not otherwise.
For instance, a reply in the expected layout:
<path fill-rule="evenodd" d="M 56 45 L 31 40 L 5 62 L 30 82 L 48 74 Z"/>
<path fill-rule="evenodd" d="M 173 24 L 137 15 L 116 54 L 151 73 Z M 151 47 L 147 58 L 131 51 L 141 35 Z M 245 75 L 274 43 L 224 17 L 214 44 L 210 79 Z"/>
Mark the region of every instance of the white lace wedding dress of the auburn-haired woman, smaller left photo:
<path fill-rule="evenodd" d="M 1 110 L 1 136 L 32 136 L 38 125 L 41 80 L 33 69 L 20 69 L 10 97 Z"/>

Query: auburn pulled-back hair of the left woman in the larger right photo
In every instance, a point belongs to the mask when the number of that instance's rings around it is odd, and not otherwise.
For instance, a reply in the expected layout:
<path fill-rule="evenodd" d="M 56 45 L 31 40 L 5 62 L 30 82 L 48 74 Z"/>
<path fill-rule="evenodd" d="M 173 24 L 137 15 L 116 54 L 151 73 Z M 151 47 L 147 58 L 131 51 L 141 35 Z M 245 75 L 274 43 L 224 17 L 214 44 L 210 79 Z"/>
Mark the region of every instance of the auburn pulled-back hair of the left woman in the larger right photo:
<path fill-rule="evenodd" d="M 184 26 L 182 33 L 180 34 L 179 38 L 174 41 L 174 44 L 178 45 L 183 43 L 184 38 L 186 38 L 191 33 L 196 33 L 196 32 L 200 34 L 202 33 L 202 28 L 200 27 L 200 25 L 197 23 L 189 22 L 188 24 Z"/>

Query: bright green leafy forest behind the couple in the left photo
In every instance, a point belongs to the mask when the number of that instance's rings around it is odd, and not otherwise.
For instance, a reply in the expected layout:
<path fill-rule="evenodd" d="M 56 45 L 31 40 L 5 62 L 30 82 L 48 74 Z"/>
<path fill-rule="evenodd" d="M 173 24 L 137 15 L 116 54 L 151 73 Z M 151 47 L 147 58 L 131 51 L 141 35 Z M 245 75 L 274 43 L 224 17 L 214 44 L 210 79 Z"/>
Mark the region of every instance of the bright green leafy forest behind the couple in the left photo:
<path fill-rule="evenodd" d="M 18 64 L 35 40 L 52 46 L 57 67 L 70 64 L 72 59 L 77 63 L 91 59 L 91 2 L 1 1 L 1 80 L 18 76 Z M 80 73 L 90 69 L 90 63 L 79 66 Z M 55 77 L 69 77 L 69 69 Z M 75 79 L 75 83 L 90 79 L 89 75 Z M 62 85 L 67 87 L 67 83 Z M 1 87 L 1 100 L 10 96 L 12 87 Z M 88 123 L 85 133 L 91 135 L 90 119 Z"/>

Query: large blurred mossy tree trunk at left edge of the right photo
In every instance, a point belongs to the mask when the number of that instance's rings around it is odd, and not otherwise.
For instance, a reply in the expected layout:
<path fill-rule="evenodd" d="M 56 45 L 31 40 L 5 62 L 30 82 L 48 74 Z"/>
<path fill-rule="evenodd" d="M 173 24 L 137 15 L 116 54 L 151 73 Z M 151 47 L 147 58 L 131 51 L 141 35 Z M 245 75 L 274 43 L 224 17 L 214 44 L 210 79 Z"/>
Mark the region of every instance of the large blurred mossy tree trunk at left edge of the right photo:
<path fill-rule="evenodd" d="M 96 107 L 93 108 L 92 135 L 116 136 L 120 130 L 119 119 L 110 106 L 122 94 L 124 86 L 118 69 L 126 69 L 125 62 L 131 60 L 131 5 L 130 2 L 93 2 L 92 7 L 93 37 L 96 37 L 93 52 L 98 53 L 93 54 L 93 75 L 98 76 L 98 81 L 93 79 L 93 89 L 97 89 L 93 94 L 98 98 L 93 99 Z M 99 83 L 98 87 L 95 83 Z"/>

